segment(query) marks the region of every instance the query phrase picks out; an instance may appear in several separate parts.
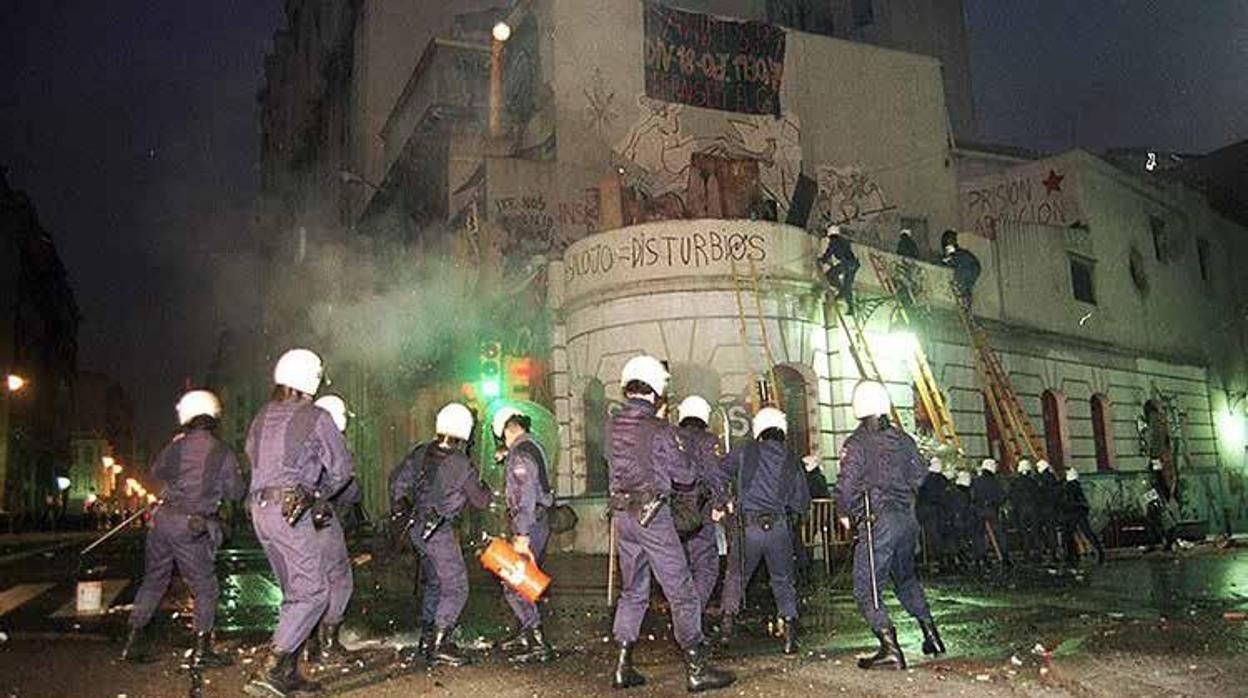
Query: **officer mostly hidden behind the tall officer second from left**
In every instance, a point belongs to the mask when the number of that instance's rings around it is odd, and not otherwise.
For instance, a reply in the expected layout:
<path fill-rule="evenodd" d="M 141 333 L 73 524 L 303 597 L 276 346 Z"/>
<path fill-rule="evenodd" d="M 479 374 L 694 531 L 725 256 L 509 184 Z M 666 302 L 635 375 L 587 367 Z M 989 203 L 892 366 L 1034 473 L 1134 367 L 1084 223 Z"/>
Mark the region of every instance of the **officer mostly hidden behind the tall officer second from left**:
<path fill-rule="evenodd" d="M 347 402 L 341 396 L 327 395 L 317 398 L 314 405 L 329 413 L 339 432 L 347 431 Z M 353 654 L 338 638 L 342 618 L 356 587 L 342 521 L 359 502 L 359 483 L 351 478 L 341 492 L 321 494 L 313 511 L 313 523 L 319 528 L 317 542 L 321 547 L 321 569 L 329 601 L 316 632 L 303 644 L 303 658 L 310 664 L 328 666 L 344 663 Z"/>

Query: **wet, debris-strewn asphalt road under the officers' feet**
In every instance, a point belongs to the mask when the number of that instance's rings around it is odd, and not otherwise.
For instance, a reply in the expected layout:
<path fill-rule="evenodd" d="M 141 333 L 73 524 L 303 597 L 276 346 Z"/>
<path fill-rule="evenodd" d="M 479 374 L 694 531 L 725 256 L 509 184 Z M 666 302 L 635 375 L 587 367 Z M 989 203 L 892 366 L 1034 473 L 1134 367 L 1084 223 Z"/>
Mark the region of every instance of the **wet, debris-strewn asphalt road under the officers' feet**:
<path fill-rule="evenodd" d="M 35 548 L 36 551 L 40 548 Z M 120 664 L 116 638 L 141 569 L 141 537 L 119 541 L 90 564 L 76 547 L 40 552 L 0 563 L 0 594 L 29 584 L 50 584 L 41 594 L 0 616 L 0 691 L 6 696 L 187 696 L 190 677 L 178 669 L 188 643 L 185 589 L 166 599 L 155 634 L 167 649 L 162 662 Z M 21 552 L 20 549 L 17 551 Z M 467 669 L 402 667 L 392 646 L 409 642 L 416 627 L 412 561 L 383 546 L 353 546 L 357 596 L 347 637 L 362 642 L 363 667 L 324 674 L 334 693 L 348 696 L 469 694 L 585 696 L 605 692 L 610 614 L 605 608 L 600 558 L 563 556 L 550 564 L 557 587 L 547 606 L 548 634 L 560 659 L 545 667 L 513 668 L 482 652 Z M 11 551 L 10 556 L 11 557 Z M 470 568 L 474 566 L 470 563 Z M 75 578 L 90 571 L 124 579 L 111 613 L 64 616 Z M 242 544 L 220 558 L 222 644 L 240 666 L 206 674 L 205 696 L 237 696 L 245 662 L 263 643 L 276 618 L 280 593 L 257 549 Z M 846 588 L 844 566 L 806 594 L 804 654 L 782 658 L 766 637 L 771 611 L 765 586 L 755 586 L 744 634 L 720 653 L 741 674 L 731 694 L 789 696 L 847 693 L 896 696 L 1248 696 L 1248 672 L 1238 661 L 1248 649 L 1248 624 L 1226 619 L 1248 611 L 1248 551 L 1201 547 L 1176 556 L 1136 554 L 1081 571 L 1031 567 L 1008 574 L 942 577 L 926 581 L 951 653 L 925 661 L 917 627 L 889 598 L 912 663 L 905 673 L 866 673 L 854 654 L 874 642 Z M 756 579 L 759 582 L 759 579 Z M 656 599 L 656 608 L 663 603 Z M 62 613 L 61 617 L 57 613 Z M 1234 618 L 1234 616 L 1231 616 Z M 473 597 L 464 614 L 464 641 L 495 638 L 509 619 L 498 586 L 474 571 Z M 666 617 L 651 613 L 639 663 L 650 683 L 645 696 L 681 693 Z"/>

